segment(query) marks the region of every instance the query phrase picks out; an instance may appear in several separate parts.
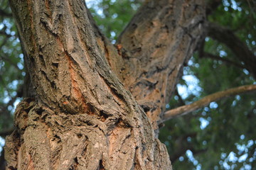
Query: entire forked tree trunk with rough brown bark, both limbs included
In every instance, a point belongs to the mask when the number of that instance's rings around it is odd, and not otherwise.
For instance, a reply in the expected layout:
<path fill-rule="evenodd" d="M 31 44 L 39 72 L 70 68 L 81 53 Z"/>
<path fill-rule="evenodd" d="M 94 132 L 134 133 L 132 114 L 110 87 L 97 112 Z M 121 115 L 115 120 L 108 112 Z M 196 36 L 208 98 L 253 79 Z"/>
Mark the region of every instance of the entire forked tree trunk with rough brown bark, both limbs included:
<path fill-rule="evenodd" d="M 16 108 L 6 169 L 171 169 L 157 122 L 203 33 L 203 0 L 146 2 L 117 49 L 83 1 L 10 2 L 36 96 Z"/>

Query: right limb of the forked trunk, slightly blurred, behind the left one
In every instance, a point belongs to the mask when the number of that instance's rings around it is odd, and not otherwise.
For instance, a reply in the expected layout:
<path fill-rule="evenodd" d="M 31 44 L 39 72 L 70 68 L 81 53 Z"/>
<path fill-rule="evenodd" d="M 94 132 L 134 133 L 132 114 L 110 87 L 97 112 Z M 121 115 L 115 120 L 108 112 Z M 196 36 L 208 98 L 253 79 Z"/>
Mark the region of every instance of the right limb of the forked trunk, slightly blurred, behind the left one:
<path fill-rule="evenodd" d="M 117 74 L 139 104 L 148 108 L 155 130 L 183 63 L 203 35 L 204 19 L 204 1 L 147 1 L 117 41 L 124 62 Z"/>

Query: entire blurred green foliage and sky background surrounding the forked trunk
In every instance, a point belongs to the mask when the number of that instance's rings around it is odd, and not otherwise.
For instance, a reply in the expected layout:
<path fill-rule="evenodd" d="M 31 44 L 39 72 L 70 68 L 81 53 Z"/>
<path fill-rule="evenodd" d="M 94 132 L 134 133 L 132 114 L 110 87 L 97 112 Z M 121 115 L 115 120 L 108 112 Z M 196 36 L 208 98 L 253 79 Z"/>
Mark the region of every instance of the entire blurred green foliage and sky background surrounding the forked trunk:
<path fill-rule="evenodd" d="M 208 0 L 205 41 L 183 69 L 166 109 L 217 91 L 256 84 L 256 1 Z M 87 0 L 92 16 L 114 43 L 142 0 Z M 0 0 L 0 165 L 4 138 L 14 130 L 13 115 L 23 97 L 26 71 L 7 0 Z M 256 169 L 256 97 L 241 94 L 173 118 L 161 128 L 174 169 Z M 1 167 L 1 166 L 0 166 Z M 3 167 L 1 167 L 3 169 Z"/>

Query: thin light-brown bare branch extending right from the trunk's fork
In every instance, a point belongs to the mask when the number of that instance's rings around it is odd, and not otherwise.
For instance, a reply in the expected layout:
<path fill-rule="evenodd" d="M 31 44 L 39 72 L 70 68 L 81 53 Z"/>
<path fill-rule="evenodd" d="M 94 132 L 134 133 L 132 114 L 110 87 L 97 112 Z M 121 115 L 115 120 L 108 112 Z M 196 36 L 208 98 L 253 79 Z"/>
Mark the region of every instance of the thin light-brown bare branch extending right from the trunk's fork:
<path fill-rule="evenodd" d="M 247 85 L 247 86 L 239 86 L 233 89 L 219 91 L 215 94 L 210 94 L 209 96 L 206 96 L 201 100 L 191 103 L 189 105 L 181 106 L 178 108 L 171 109 L 170 111 L 166 111 L 164 113 L 163 121 L 174 118 L 177 115 L 186 115 L 188 113 L 198 110 L 198 108 L 203 108 L 204 106 L 207 106 L 210 102 L 218 101 L 221 98 L 226 98 L 228 96 L 234 96 L 237 94 L 242 94 L 248 91 L 255 91 L 255 90 L 256 90 L 256 85 L 253 84 L 253 85 Z"/>

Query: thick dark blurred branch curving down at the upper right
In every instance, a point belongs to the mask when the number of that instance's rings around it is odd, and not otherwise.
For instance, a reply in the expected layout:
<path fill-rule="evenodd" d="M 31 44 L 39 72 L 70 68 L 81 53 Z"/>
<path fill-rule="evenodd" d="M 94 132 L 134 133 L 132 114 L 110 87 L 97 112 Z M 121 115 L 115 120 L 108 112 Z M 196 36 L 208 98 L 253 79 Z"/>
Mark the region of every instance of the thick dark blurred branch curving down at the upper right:
<path fill-rule="evenodd" d="M 247 45 L 228 28 L 209 22 L 206 24 L 206 28 L 208 36 L 227 45 L 238 57 L 238 60 L 245 63 L 245 67 L 256 79 L 256 56 L 248 49 Z"/>

